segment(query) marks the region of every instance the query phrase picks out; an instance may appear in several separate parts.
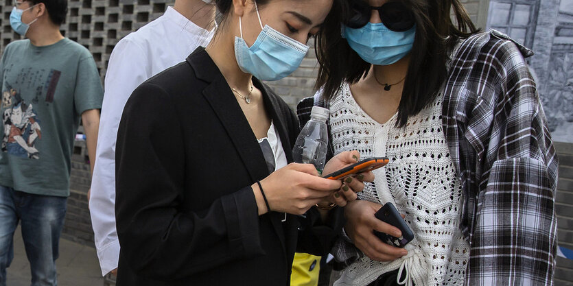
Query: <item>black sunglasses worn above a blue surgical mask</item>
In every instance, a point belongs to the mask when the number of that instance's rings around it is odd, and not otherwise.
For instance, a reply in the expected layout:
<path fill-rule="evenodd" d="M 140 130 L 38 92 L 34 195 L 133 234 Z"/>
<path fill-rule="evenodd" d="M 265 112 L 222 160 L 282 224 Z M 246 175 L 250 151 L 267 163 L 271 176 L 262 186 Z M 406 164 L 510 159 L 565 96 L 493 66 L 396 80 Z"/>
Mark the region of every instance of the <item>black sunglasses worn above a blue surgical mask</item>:
<path fill-rule="evenodd" d="M 360 0 L 350 0 L 349 16 L 343 23 L 352 29 L 364 27 L 370 21 L 371 11 L 377 10 L 382 23 L 395 32 L 405 32 L 414 27 L 414 14 L 401 1 L 390 1 L 379 7 L 372 7 Z"/>

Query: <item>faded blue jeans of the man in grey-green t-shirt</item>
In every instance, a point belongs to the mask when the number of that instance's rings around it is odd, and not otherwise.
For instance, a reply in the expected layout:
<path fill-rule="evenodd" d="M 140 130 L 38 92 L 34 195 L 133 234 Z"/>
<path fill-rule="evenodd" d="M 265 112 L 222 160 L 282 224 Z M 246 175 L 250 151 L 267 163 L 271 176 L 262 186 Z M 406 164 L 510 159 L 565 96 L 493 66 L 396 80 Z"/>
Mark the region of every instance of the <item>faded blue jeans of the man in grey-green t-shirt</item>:
<path fill-rule="evenodd" d="M 18 222 L 30 261 L 32 286 L 58 285 L 56 259 L 66 200 L 0 186 L 0 286 L 6 286 L 6 268 L 14 258 L 13 237 Z"/>

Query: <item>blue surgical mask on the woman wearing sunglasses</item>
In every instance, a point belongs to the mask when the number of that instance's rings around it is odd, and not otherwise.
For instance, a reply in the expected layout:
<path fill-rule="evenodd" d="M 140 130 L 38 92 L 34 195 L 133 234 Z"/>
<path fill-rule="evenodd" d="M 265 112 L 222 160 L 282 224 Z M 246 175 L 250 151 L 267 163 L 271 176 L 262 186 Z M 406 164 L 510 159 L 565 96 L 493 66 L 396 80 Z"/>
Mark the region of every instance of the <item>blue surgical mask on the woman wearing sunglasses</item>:
<path fill-rule="evenodd" d="M 386 66 L 410 53 L 416 36 L 416 26 L 406 32 L 394 32 L 383 23 L 368 23 L 358 29 L 344 27 L 342 34 L 362 60 Z"/>

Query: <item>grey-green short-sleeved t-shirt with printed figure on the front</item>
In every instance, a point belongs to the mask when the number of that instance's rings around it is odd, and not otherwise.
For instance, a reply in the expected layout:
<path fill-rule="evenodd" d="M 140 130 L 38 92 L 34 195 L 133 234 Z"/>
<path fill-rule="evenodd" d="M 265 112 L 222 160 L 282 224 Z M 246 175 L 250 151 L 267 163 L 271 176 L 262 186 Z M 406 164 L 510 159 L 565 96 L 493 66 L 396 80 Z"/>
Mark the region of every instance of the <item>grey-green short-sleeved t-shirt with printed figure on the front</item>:
<path fill-rule="evenodd" d="M 91 53 L 68 38 L 43 47 L 17 40 L 5 47 L 0 80 L 0 185 L 68 196 L 80 117 L 104 96 Z"/>

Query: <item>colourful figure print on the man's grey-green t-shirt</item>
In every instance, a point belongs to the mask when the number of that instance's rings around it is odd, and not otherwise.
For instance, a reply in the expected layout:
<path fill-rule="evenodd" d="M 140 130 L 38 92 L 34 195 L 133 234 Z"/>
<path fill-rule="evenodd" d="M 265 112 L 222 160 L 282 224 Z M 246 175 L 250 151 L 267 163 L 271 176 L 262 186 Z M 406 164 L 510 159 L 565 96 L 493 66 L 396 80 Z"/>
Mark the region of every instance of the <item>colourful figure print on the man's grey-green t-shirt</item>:
<path fill-rule="evenodd" d="M 42 139 L 42 131 L 34 106 L 26 103 L 18 91 L 10 88 L 10 91 L 2 93 L 2 110 L 2 151 L 23 158 L 39 159 L 40 152 L 35 145 L 36 140 Z"/>

